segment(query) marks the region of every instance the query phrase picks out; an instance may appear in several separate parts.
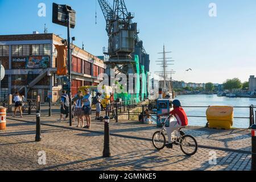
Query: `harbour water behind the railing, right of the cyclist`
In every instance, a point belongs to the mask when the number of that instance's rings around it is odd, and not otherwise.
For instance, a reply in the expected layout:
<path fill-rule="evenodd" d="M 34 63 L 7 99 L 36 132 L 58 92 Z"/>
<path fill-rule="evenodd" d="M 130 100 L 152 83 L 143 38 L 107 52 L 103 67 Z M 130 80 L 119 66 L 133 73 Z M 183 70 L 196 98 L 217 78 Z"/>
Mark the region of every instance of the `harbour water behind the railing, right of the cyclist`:
<path fill-rule="evenodd" d="M 183 106 L 256 106 L 256 98 L 228 98 L 214 95 L 185 95 L 176 96 Z M 184 107 L 187 115 L 205 116 L 207 108 Z M 255 111 L 255 109 L 254 109 Z M 234 108 L 234 117 L 249 117 L 249 108 Z M 189 117 L 189 125 L 205 126 L 207 118 Z M 248 128 L 249 119 L 234 119 L 233 127 Z"/>

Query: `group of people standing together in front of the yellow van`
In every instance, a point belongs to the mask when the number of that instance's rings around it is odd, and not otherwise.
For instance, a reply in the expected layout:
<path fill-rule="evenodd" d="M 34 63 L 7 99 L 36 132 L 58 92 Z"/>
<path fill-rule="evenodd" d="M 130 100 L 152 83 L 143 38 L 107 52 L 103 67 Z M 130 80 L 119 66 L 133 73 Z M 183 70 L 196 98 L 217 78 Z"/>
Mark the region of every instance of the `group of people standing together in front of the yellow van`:
<path fill-rule="evenodd" d="M 92 122 L 92 105 L 96 105 L 96 120 L 99 120 L 101 114 L 101 95 L 102 93 L 98 92 L 96 97 L 92 97 L 89 93 L 89 89 L 85 89 L 85 95 L 81 90 L 72 98 L 72 122 L 75 122 L 75 117 L 77 117 L 77 127 L 90 129 Z M 66 121 L 69 115 L 69 97 L 65 90 L 62 92 L 61 96 L 61 108 L 60 108 L 60 122 Z M 65 118 L 63 116 L 65 115 Z M 86 120 L 86 126 L 84 126 L 84 119 Z"/>

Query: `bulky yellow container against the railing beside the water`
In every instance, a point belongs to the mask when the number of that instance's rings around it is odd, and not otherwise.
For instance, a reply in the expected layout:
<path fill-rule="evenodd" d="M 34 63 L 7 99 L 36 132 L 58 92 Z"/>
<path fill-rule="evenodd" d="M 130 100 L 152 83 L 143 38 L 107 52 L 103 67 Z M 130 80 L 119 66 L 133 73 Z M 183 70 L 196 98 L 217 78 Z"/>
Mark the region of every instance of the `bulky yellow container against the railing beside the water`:
<path fill-rule="evenodd" d="M 210 106 L 206 114 L 209 128 L 229 130 L 233 126 L 234 108 L 232 106 Z"/>

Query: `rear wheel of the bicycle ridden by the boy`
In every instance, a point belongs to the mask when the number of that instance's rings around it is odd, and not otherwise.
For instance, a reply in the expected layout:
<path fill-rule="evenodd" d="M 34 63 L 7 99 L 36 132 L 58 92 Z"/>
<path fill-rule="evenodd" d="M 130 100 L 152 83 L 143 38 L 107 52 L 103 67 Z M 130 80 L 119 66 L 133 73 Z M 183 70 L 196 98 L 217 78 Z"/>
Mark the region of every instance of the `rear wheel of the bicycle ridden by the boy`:
<path fill-rule="evenodd" d="M 194 155 L 197 152 L 197 142 L 196 139 L 191 135 L 185 135 L 181 138 L 180 149 L 185 155 Z"/>

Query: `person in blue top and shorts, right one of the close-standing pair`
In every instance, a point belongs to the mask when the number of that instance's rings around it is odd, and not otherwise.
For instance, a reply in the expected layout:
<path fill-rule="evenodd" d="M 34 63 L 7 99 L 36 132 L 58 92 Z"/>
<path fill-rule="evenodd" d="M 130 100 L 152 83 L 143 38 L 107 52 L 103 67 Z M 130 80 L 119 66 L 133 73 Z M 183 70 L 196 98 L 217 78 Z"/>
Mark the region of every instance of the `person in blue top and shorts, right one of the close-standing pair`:
<path fill-rule="evenodd" d="M 82 108 L 84 110 L 84 115 L 87 123 L 84 128 L 90 129 L 90 123 L 92 122 L 92 118 L 90 117 L 92 111 L 92 96 L 89 93 L 89 89 L 85 89 L 85 96 L 82 99 L 82 102 L 84 102 L 84 106 Z"/>

